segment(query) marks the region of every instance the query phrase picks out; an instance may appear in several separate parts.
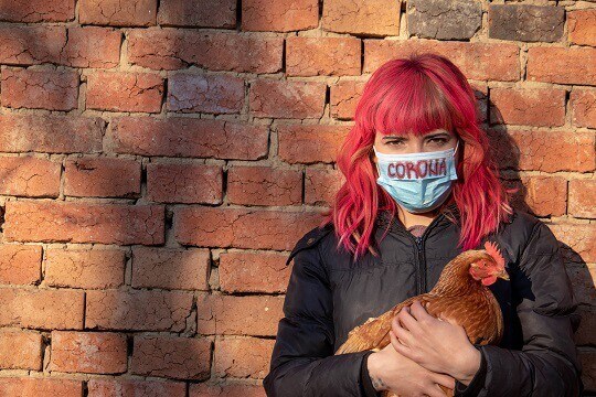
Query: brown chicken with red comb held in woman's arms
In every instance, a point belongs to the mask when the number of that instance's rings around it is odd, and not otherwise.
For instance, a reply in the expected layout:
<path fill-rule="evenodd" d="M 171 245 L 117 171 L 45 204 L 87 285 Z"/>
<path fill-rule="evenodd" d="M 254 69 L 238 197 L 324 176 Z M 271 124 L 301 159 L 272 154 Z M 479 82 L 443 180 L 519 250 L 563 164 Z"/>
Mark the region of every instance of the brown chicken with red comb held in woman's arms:
<path fill-rule="evenodd" d="M 390 330 L 393 318 L 402 308 L 419 300 L 426 311 L 435 316 L 447 316 L 464 326 L 471 343 L 498 344 L 503 334 L 503 319 L 499 302 L 488 288 L 497 278 L 509 280 L 504 259 L 492 243 L 485 249 L 470 249 L 449 261 L 436 286 L 427 293 L 406 299 L 377 318 L 370 318 L 354 328 L 336 354 L 380 351 L 391 343 Z M 447 396 L 454 390 L 441 386 Z M 383 391 L 384 397 L 396 396 Z"/>

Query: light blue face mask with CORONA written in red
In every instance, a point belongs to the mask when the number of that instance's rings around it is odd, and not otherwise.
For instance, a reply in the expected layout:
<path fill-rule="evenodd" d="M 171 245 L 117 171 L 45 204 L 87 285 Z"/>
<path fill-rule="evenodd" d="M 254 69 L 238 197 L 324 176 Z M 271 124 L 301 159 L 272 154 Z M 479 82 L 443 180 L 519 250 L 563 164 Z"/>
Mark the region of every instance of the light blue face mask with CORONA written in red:
<path fill-rule="evenodd" d="M 440 206 L 457 180 L 455 148 L 434 152 L 389 154 L 373 147 L 379 183 L 411 213 L 425 213 Z"/>

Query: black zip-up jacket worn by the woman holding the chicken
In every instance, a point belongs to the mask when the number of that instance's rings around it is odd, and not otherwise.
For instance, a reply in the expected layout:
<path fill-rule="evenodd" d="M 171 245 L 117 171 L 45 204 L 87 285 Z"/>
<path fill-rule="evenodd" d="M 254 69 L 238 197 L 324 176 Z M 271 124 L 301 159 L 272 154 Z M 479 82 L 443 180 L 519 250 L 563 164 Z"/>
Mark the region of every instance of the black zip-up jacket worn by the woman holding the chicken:
<path fill-rule="evenodd" d="M 459 219 L 457 207 L 450 208 Z M 387 224 L 390 233 L 380 242 Z M 418 239 L 386 213 L 376 226 L 381 257 L 368 253 L 354 262 L 343 247 L 336 248 L 332 224 L 313 228 L 296 244 L 287 261 L 294 258 L 285 316 L 263 382 L 267 396 L 365 396 L 361 367 L 371 351 L 333 353 L 354 326 L 429 291 L 444 266 L 461 253 L 459 226 L 443 214 Z M 579 396 L 582 366 L 573 341 L 579 318 L 558 243 L 544 223 L 524 212 L 515 211 L 502 226 L 487 239 L 500 247 L 510 275 L 510 281 L 490 286 L 504 335 L 499 346 L 476 345 L 485 368 L 472 382 L 478 388 L 468 387 L 467 394 Z M 459 382 L 456 386 L 456 395 L 466 389 Z"/>

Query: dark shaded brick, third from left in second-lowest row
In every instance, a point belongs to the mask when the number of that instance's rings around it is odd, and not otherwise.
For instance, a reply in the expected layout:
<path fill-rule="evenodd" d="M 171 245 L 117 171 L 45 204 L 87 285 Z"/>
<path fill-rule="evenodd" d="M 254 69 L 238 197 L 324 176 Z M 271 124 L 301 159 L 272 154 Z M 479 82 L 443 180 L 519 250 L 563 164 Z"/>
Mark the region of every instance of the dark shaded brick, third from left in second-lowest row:
<path fill-rule="evenodd" d="M 135 336 L 130 372 L 178 379 L 207 379 L 211 344 L 202 337 Z"/>

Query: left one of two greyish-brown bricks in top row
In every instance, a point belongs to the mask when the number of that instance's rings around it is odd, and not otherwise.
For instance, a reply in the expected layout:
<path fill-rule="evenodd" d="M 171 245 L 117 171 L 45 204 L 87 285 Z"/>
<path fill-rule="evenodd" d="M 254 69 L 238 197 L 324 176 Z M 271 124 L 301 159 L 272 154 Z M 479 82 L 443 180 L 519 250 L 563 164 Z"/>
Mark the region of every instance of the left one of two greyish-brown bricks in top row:
<path fill-rule="evenodd" d="M 407 29 L 409 34 L 418 37 L 470 39 L 481 23 L 482 4 L 479 1 L 407 1 Z"/>

